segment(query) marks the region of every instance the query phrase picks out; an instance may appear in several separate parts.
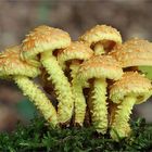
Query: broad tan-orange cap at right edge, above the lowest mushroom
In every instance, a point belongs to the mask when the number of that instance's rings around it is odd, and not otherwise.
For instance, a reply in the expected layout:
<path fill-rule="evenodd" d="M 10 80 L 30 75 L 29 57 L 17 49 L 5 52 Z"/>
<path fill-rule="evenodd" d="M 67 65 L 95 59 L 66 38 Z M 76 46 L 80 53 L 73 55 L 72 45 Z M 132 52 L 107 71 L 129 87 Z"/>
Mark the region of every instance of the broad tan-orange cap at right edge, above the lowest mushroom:
<path fill-rule="evenodd" d="M 115 58 L 123 67 L 152 65 L 152 43 L 143 39 L 130 39 L 124 45 L 117 45 L 109 53 Z"/>

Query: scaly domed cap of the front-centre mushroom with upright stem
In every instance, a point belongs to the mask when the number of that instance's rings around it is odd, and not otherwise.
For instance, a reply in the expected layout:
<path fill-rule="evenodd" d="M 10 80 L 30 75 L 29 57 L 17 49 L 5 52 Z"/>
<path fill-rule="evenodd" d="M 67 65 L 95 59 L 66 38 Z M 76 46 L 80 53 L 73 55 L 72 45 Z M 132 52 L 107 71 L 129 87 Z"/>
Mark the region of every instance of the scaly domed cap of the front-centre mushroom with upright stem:
<path fill-rule="evenodd" d="M 123 69 L 118 62 L 110 55 L 93 55 L 80 64 L 77 77 L 80 79 L 109 78 L 119 79 Z"/>

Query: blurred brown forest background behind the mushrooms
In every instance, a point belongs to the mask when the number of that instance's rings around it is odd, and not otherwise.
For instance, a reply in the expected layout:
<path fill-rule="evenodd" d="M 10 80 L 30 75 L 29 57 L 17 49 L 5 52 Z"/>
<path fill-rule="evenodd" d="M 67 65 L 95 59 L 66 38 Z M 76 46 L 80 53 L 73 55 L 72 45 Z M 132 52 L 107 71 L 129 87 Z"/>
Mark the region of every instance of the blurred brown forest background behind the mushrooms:
<path fill-rule="evenodd" d="M 123 39 L 152 40 L 151 0 L 0 0 L 0 51 L 21 43 L 28 30 L 46 24 L 68 31 L 74 40 L 97 24 L 116 27 Z M 136 105 L 134 116 L 152 122 L 152 102 Z M 0 80 L 0 131 L 28 124 L 33 104 L 11 81 Z"/>

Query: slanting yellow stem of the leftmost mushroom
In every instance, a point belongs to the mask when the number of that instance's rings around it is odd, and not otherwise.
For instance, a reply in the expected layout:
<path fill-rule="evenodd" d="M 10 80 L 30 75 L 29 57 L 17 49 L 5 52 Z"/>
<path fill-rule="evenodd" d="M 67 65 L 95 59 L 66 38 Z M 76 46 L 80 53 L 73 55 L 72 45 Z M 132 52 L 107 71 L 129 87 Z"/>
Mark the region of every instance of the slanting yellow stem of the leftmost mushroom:
<path fill-rule="evenodd" d="M 38 89 L 38 86 L 25 76 L 14 76 L 14 80 L 22 89 L 24 94 L 34 102 L 34 104 L 45 116 L 47 122 L 52 127 L 55 127 L 58 124 L 56 111 L 49 99 L 46 97 L 46 94 L 40 89 Z"/>

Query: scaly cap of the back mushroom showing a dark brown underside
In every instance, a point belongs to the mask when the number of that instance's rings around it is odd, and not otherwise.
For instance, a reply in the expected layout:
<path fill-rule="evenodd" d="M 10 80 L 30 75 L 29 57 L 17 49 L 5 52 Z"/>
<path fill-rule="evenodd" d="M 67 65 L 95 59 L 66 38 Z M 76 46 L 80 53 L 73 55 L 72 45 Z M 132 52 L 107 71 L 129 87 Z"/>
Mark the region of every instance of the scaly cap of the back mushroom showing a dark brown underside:
<path fill-rule="evenodd" d="M 107 25 L 96 25 L 80 36 L 79 39 L 87 41 L 90 46 L 102 40 L 111 40 L 116 43 L 122 43 L 122 36 L 119 31 Z"/>

